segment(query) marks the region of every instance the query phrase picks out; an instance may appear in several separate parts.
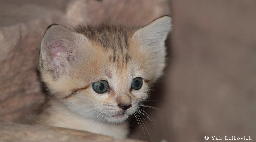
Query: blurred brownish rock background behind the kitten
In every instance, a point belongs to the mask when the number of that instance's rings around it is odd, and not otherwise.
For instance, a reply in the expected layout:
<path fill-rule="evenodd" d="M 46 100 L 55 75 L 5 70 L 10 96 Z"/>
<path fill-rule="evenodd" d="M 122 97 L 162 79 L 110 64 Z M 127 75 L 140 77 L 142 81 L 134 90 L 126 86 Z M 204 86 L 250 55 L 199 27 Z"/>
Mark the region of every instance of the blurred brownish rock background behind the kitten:
<path fill-rule="evenodd" d="M 138 26 L 162 15 L 173 26 L 168 65 L 147 103 L 158 109 L 145 109 L 153 120 L 132 123 L 129 138 L 255 141 L 255 0 L 0 0 L 0 120 L 21 123 L 44 101 L 36 54 L 48 25 Z"/>

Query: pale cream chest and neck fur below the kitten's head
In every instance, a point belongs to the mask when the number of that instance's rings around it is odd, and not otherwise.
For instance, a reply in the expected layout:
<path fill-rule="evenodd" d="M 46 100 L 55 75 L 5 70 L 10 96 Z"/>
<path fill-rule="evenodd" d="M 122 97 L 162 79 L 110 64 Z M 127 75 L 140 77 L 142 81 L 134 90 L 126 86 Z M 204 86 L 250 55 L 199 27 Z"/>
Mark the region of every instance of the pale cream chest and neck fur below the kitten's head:
<path fill-rule="evenodd" d="M 58 101 L 51 100 L 48 105 L 50 107 L 45 109 L 37 124 L 89 131 L 115 138 L 125 138 L 129 132 L 126 122 L 111 124 L 92 121 L 92 119 L 86 119 L 71 112 Z"/>

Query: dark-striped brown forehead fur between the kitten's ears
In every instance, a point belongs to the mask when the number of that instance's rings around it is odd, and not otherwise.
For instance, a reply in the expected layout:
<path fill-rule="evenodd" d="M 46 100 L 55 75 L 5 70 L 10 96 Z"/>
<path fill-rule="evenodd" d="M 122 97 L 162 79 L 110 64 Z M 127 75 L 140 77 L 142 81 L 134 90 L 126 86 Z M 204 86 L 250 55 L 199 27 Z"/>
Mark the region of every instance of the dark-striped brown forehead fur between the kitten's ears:
<path fill-rule="evenodd" d="M 127 75 L 130 71 L 128 64 L 132 59 L 131 38 L 135 32 L 135 28 L 124 28 L 119 25 L 88 25 L 86 27 L 78 27 L 76 29 L 78 33 L 84 34 L 89 41 L 94 43 L 97 48 L 103 52 L 100 52 L 100 56 L 105 56 L 104 59 L 108 60 L 112 67 L 112 71 L 106 71 L 108 77 L 116 72 L 119 75 Z M 113 72 L 114 71 L 114 72 Z M 121 76 L 122 76 L 121 75 Z"/>

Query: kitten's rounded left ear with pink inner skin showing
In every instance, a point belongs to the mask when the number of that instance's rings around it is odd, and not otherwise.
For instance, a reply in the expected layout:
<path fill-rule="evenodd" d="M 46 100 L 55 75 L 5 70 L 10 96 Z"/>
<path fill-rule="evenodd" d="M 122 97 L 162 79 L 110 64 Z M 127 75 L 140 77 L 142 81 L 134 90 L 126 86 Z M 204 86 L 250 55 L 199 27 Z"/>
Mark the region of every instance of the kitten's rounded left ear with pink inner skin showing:
<path fill-rule="evenodd" d="M 55 74 L 68 73 L 71 63 L 76 60 L 80 47 L 88 39 L 61 25 L 51 25 L 46 30 L 40 45 L 40 69 Z"/>

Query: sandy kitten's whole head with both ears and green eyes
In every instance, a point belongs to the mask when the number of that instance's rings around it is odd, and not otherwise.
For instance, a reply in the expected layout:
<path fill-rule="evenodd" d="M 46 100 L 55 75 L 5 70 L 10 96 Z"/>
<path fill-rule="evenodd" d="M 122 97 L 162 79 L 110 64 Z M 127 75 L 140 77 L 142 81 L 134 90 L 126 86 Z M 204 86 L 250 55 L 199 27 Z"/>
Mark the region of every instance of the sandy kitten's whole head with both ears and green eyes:
<path fill-rule="evenodd" d="M 52 96 L 76 114 L 124 122 L 162 75 L 170 29 L 169 16 L 142 28 L 52 25 L 40 46 L 41 78 Z"/>

